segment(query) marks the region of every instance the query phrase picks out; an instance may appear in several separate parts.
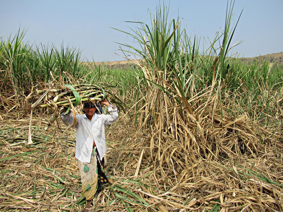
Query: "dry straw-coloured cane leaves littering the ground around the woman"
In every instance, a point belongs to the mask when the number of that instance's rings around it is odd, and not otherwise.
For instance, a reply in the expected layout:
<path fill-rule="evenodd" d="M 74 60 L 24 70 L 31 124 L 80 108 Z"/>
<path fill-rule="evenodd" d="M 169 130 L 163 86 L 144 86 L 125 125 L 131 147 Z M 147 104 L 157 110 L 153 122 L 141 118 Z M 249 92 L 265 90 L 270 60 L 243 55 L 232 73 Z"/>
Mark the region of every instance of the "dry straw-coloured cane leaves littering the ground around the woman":
<path fill-rule="evenodd" d="M 1 113 L 1 211 L 81 211 L 74 131 L 62 134 L 55 125 L 42 131 L 47 122 L 34 116 L 34 143 L 27 145 L 29 116 L 14 115 Z M 214 143 L 185 144 L 167 133 L 132 134 L 121 113 L 106 129 L 112 184 L 97 196 L 94 211 L 282 211 L 282 134 L 245 116 L 226 118 L 225 127 L 206 128 Z"/>

